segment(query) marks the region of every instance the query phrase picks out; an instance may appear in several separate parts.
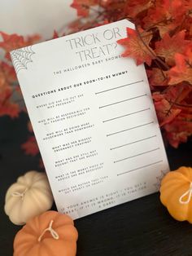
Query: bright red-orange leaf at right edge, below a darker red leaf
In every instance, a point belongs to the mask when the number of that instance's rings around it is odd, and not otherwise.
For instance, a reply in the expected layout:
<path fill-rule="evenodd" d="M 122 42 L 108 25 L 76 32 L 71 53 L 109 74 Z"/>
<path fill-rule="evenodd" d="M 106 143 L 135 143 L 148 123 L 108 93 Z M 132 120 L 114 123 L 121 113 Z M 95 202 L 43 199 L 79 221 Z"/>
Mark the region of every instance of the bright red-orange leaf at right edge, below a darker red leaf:
<path fill-rule="evenodd" d="M 192 60 L 188 60 L 185 55 L 177 53 L 175 61 L 176 65 L 168 72 L 170 78 L 168 84 L 175 85 L 185 81 L 192 85 L 192 63 L 190 63 Z"/>

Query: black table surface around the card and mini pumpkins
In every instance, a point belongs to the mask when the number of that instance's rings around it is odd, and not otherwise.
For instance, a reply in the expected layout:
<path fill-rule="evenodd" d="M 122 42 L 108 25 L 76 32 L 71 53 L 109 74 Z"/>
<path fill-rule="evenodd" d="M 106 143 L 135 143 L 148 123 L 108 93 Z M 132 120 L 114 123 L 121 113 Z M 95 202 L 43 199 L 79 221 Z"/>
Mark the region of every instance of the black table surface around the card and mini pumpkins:
<path fill-rule="evenodd" d="M 4 213 L 7 188 L 21 174 L 39 169 L 38 158 L 24 155 L 20 148 L 28 137 L 27 121 L 25 114 L 15 120 L 0 118 L 1 256 L 13 254 L 13 240 L 21 228 Z M 192 166 L 191 141 L 177 149 L 167 148 L 167 153 L 171 170 Z M 159 193 L 78 219 L 75 226 L 77 256 L 192 255 L 192 225 L 174 220 L 160 203 Z"/>

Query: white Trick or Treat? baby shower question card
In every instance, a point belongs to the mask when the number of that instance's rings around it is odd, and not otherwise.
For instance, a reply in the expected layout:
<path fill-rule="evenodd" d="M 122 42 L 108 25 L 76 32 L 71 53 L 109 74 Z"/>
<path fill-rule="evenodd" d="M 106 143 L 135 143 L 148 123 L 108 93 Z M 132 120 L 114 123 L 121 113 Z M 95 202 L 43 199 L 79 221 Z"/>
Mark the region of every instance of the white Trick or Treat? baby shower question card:
<path fill-rule="evenodd" d="M 158 190 L 168 171 L 128 20 L 11 52 L 59 212 L 73 219 Z"/>

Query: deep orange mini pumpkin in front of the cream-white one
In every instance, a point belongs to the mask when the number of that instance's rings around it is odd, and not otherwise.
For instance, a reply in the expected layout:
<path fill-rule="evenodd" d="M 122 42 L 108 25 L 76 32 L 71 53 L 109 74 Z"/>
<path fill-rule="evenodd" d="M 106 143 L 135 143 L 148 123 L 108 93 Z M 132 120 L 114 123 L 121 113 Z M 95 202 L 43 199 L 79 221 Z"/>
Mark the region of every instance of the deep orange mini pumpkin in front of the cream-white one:
<path fill-rule="evenodd" d="M 50 210 L 16 234 L 14 256 L 75 256 L 77 237 L 72 218 Z"/>

